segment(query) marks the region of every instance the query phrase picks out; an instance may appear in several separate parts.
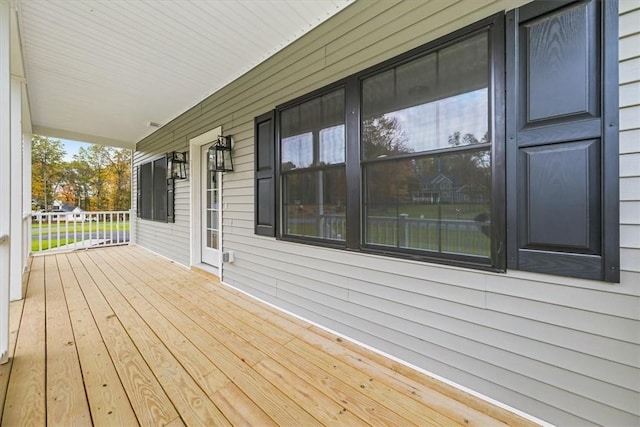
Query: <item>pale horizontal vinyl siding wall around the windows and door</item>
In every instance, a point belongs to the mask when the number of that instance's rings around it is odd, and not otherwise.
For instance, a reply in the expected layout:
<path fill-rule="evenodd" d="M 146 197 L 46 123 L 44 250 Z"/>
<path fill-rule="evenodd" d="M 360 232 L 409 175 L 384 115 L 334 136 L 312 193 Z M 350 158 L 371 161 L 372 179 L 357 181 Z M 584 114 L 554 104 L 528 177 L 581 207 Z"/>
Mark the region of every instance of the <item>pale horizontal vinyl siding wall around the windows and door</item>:
<path fill-rule="evenodd" d="M 559 425 L 640 422 L 640 21 L 620 3 L 621 283 L 494 274 L 254 235 L 253 119 L 276 105 L 526 1 L 357 1 L 138 144 L 136 164 L 222 126 L 224 282 Z M 193 177 L 189 177 L 193 179 Z M 176 223 L 138 243 L 189 262 L 188 182 Z M 135 193 L 134 193 L 135 194 Z"/>

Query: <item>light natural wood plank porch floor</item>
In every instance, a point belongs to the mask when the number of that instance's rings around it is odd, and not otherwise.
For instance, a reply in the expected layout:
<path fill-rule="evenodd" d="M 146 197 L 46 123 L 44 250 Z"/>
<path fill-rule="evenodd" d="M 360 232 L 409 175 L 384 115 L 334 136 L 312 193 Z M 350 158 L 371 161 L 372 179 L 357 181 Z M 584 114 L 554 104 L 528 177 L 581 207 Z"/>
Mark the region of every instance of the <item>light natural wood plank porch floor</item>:
<path fill-rule="evenodd" d="M 35 257 L 3 426 L 531 425 L 139 247 Z"/>

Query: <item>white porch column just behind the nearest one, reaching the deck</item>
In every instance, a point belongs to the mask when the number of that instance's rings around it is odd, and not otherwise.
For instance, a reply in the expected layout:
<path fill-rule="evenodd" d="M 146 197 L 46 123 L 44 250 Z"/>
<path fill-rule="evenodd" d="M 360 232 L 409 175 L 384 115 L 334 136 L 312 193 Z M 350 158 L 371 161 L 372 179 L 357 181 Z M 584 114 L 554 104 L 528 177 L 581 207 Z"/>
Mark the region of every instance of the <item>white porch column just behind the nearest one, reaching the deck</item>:
<path fill-rule="evenodd" d="M 22 80 L 11 78 L 11 228 L 9 235 L 11 267 L 9 270 L 9 298 L 22 299 Z"/>

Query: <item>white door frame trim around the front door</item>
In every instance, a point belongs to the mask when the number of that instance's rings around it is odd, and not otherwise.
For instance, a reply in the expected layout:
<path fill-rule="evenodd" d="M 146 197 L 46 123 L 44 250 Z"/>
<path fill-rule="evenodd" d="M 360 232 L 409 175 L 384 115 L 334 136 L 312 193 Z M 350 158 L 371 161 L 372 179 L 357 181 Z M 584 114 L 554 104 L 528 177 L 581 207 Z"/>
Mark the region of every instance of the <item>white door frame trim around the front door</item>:
<path fill-rule="evenodd" d="M 222 135 L 222 126 L 189 139 L 189 167 L 191 169 L 189 201 L 191 206 L 191 250 L 189 258 L 192 266 L 202 265 L 202 212 L 200 205 L 202 200 L 202 146 L 213 143 L 218 135 Z M 220 182 L 220 196 L 222 196 L 222 182 Z M 222 252 L 222 248 L 220 248 L 220 252 Z M 218 273 L 222 277 L 222 262 L 218 266 Z"/>

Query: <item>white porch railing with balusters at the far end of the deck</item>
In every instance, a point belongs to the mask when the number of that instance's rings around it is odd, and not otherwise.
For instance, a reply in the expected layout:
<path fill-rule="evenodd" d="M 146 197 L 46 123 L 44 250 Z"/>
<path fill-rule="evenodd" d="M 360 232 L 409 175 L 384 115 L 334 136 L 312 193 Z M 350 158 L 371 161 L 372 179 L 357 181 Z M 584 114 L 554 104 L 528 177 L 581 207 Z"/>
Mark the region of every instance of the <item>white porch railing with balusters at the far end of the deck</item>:
<path fill-rule="evenodd" d="M 130 211 L 35 213 L 31 225 L 31 252 L 73 251 L 129 244 Z"/>

